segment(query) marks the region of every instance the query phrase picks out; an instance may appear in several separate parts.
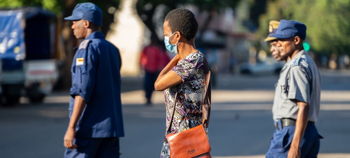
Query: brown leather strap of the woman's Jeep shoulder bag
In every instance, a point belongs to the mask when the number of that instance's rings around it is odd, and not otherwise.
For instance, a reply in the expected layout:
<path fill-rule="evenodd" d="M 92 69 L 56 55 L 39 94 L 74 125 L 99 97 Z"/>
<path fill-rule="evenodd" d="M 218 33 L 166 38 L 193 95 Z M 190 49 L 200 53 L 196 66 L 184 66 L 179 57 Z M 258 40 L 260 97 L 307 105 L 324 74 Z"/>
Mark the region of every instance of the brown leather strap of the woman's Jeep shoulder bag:
<path fill-rule="evenodd" d="M 204 81 L 205 81 L 205 90 L 204 90 L 205 96 L 204 96 L 204 101 L 203 101 L 203 105 L 202 105 L 202 115 L 203 115 L 202 124 L 205 126 L 205 128 L 208 128 L 209 119 L 210 119 L 210 109 L 211 109 L 211 85 L 210 85 L 209 64 L 208 64 L 208 60 L 204 54 L 203 54 L 203 67 L 204 67 Z M 172 111 L 172 115 L 171 115 L 170 120 L 169 120 L 167 134 L 169 133 L 169 131 L 171 130 L 171 127 L 172 127 L 178 91 L 179 91 L 179 86 L 176 87 L 173 111 Z"/>

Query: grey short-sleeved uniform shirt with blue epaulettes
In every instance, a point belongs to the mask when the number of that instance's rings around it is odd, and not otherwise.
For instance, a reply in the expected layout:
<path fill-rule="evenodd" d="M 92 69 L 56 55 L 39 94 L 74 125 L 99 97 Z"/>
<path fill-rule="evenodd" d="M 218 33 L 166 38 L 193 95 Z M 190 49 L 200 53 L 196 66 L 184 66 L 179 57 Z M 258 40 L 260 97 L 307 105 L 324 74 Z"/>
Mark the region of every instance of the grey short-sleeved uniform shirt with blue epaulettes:
<path fill-rule="evenodd" d="M 282 68 L 275 85 L 272 106 L 274 121 L 282 118 L 296 119 L 297 100 L 309 103 L 309 120 L 316 122 L 320 111 L 321 74 L 306 51 L 298 52 Z"/>

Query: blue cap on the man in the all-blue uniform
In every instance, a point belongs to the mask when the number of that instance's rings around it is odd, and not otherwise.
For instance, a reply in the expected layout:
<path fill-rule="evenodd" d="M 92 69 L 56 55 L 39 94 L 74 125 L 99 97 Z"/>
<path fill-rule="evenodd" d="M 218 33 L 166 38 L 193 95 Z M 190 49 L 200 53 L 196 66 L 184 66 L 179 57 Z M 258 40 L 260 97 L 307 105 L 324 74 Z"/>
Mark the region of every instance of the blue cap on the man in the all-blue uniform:
<path fill-rule="evenodd" d="M 102 25 L 102 10 L 93 3 L 79 3 L 75 6 L 71 16 L 64 20 L 80 20 L 84 19 L 91 23 Z"/>

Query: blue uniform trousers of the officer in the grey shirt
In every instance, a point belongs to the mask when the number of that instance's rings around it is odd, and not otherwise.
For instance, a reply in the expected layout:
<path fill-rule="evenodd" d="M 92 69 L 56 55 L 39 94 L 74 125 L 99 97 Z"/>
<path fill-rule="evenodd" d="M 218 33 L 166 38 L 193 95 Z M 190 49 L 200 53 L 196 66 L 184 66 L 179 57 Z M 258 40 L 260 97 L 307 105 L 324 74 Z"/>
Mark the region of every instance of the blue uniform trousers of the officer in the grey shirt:
<path fill-rule="evenodd" d="M 279 130 L 275 130 L 270 142 L 270 148 L 266 153 L 266 158 L 287 158 L 290 144 L 292 143 L 295 126 L 281 126 L 278 121 Z M 301 158 L 317 158 L 320 150 L 320 136 L 315 127 L 315 123 L 308 123 L 300 142 Z"/>

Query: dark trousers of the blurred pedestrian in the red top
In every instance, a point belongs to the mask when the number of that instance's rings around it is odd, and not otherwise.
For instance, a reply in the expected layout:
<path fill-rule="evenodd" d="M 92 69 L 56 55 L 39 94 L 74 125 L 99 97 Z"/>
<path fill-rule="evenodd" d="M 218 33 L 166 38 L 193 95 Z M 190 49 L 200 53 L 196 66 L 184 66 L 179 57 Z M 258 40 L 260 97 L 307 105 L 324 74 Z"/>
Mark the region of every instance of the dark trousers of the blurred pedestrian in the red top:
<path fill-rule="evenodd" d="M 157 80 L 159 72 L 147 72 L 145 74 L 144 89 L 147 101 L 151 101 L 152 92 L 154 90 L 154 82 Z"/>

